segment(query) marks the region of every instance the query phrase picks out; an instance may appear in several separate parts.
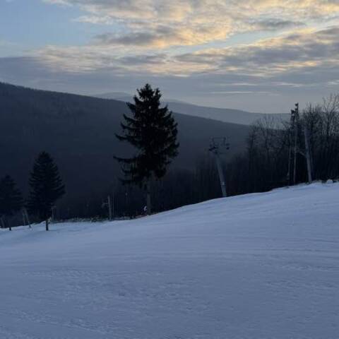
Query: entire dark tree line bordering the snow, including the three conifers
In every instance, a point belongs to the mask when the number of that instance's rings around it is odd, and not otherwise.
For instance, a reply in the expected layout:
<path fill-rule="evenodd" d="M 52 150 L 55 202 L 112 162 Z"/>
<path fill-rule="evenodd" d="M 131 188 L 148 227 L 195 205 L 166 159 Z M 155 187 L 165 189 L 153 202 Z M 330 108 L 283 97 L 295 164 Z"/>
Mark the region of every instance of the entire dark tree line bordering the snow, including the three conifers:
<path fill-rule="evenodd" d="M 145 85 L 138 90 L 134 102 L 127 104 L 131 114 L 124 114 L 121 133 L 116 136 L 132 145 L 135 153 L 132 157 L 114 155 L 121 164 L 119 182 L 83 201 L 78 208 L 79 217 L 107 217 L 107 196 L 112 200 L 114 217 L 150 214 L 221 196 L 215 158 L 208 153 L 207 145 L 195 168 L 168 171 L 179 153 L 177 123 L 167 107 L 161 107 L 160 98 L 159 89 Z M 232 147 L 232 140 L 230 143 Z M 307 182 L 308 169 L 314 180 L 335 179 L 339 176 L 338 165 L 339 95 L 331 95 L 321 105 L 307 105 L 302 112 L 293 110 L 290 121 L 273 116 L 256 121 L 246 138 L 244 152 L 232 159 L 225 157 L 222 169 L 227 196 L 233 196 Z M 48 153 L 41 153 L 30 176 L 27 201 L 11 177 L 1 179 L 2 227 L 10 226 L 11 216 L 25 207 L 30 215 L 44 220 L 48 230 L 52 212 L 57 214 L 55 203 L 64 193 L 57 165 Z"/>

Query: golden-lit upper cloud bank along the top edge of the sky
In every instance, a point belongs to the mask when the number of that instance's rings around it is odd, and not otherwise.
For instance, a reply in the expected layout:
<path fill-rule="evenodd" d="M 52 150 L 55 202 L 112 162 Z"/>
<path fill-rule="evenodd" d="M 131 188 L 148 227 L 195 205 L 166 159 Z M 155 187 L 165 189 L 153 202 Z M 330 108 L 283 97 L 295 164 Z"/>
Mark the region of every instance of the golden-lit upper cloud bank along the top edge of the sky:
<path fill-rule="evenodd" d="M 81 22 L 115 24 L 95 37 L 102 44 L 143 48 L 208 44 L 244 32 L 319 24 L 339 14 L 336 0 L 44 1 L 78 6 L 85 13 L 75 19 Z"/>

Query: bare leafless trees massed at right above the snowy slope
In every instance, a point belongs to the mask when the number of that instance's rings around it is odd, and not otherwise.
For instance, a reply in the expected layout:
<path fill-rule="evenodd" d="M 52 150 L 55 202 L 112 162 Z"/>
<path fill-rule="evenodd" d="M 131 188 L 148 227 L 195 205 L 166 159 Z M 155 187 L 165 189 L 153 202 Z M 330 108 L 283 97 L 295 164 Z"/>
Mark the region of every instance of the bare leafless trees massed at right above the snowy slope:
<path fill-rule="evenodd" d="M 307 105 L 295 121 L 265 117 L 251 126 L 246 151 L 227 165 L 230 194 L 308 182 L 308 151 L 312 180 L 339 177 L 339 95 Z"/>

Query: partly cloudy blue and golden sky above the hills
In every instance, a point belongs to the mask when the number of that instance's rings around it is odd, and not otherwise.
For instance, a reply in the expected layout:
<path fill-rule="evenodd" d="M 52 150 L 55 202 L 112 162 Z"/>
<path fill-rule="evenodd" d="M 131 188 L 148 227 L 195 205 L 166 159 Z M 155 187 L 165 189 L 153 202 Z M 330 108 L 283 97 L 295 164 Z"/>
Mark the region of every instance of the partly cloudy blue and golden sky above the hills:
<path fill-rule="evenodd" d="M 0 0 L 0 81 L 290 112 L 339 92 L 339 0 Z"/>

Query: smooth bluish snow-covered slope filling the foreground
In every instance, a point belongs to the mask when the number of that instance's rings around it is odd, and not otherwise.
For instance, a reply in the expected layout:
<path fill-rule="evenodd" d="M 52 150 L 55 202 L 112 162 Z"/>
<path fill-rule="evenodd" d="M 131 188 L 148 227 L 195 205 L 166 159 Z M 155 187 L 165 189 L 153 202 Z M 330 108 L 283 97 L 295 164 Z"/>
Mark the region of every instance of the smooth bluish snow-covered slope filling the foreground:
<path fill-rule="evenodd" d="M 339 184 L 1 230 L 0 338 L 337 339 Z"/>

